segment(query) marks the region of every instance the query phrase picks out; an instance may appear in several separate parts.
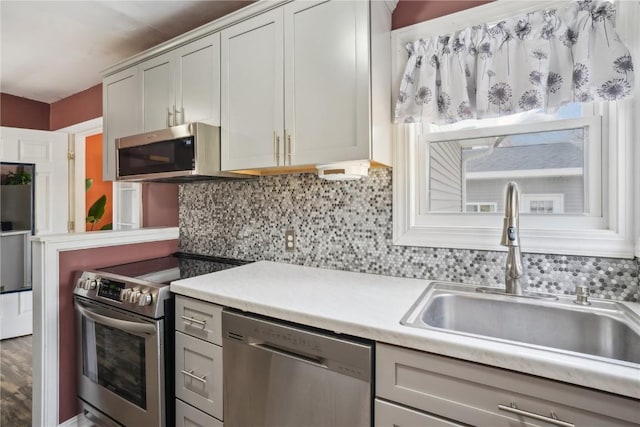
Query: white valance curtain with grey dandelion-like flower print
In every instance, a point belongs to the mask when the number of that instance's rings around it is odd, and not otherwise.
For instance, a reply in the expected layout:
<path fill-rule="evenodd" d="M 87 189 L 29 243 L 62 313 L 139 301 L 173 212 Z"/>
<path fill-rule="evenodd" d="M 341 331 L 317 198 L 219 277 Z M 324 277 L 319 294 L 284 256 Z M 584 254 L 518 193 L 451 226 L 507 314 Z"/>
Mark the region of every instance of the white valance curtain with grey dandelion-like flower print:
<path fill-rule="evenodd" d="M 407 44 L 395 121 L 453 123 L 631 96 L 608 1 L 577 1 Z"/>

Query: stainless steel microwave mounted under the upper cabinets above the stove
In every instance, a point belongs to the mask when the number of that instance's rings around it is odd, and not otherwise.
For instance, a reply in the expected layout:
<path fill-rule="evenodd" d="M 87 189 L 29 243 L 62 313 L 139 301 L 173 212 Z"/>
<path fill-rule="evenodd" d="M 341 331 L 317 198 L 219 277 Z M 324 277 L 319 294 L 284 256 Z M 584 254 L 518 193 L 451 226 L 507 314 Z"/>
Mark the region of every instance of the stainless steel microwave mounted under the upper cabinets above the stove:
<path fill-rule="evenodd" d="M 187 123 L 116 139 L 116 180 L 190 182 L 251 178 L 220 170 L 220 128 Z"/>

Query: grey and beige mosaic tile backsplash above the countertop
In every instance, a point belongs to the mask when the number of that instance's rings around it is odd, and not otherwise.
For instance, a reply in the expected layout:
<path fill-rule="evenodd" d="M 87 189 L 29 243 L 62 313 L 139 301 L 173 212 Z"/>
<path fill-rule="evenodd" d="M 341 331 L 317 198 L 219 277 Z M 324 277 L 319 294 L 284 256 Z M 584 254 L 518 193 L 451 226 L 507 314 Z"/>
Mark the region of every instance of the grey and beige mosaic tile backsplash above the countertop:
<path fill-rule="evenodd" d="M 315 174 L 180 185 L 180 250 L 336 270 L 503 286 L 506 252 L 394 246 L 391 169 L 357 181 Z M 284 232 L 296 249 L 284 250 Z M 525 246 L 526 249 L 526 246 Z M 523 254 L 537 292 L 638 302 L 638 259 Z"/>

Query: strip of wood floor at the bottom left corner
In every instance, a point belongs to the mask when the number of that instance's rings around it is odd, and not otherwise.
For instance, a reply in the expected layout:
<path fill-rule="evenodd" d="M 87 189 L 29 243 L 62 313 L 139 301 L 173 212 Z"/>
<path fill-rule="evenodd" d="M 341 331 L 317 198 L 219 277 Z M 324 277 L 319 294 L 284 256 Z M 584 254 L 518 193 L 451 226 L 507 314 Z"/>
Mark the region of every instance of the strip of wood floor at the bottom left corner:
<path fill-rule="evenodd" d="M 0 341 L 0 426 L 31 426 L 31 335 Z"/>

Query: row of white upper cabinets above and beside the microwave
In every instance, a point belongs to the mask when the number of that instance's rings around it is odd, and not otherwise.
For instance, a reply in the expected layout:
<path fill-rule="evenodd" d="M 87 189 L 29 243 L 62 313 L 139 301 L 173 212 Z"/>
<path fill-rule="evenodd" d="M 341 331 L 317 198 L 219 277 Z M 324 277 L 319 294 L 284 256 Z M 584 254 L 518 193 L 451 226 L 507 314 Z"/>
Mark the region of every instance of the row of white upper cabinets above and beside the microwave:
<path fill-rule="evenodd" d="M 203 121 L 221 127 L 226 171 L 391 165 L 396 3 L 258 1 L 113 67 L 107 157 L 115 159 L 115 136 Z M 108 86 L 120 73 L 131 74 L 124 91 Z"/>

